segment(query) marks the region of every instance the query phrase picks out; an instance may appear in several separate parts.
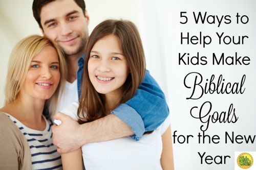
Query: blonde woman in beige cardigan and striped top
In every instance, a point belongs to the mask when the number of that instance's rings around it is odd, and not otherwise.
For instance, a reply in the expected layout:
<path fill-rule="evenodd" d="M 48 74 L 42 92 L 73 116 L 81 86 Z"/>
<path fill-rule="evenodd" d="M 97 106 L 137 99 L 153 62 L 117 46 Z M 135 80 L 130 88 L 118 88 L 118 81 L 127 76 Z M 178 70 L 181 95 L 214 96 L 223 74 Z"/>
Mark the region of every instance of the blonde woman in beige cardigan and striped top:
<path fill-rule="evenodd" d="M 65 68 L 59 48 L 44 37 L 29 36 L 14 47 L 0 109 L 0 169 L 62 169 L 44 109 L 56 104 Z"/>

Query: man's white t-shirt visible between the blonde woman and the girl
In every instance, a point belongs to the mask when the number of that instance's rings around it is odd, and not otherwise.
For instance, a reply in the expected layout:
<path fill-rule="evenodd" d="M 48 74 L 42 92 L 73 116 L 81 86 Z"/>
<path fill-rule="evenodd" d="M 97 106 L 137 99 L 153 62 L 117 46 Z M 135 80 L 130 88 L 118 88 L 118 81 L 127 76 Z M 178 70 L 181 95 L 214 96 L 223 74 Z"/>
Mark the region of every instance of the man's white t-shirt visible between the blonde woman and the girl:
<path fill-rule="evenodd" d="M 62 90 L 61 88 L 60 91 Z M 73 83 L 66 81 L 65 89 L 62 95 L 59 94 L 58 96 L 56 113 L 66 108 L 74 101 L 78 101 L 77 79 Z"/>

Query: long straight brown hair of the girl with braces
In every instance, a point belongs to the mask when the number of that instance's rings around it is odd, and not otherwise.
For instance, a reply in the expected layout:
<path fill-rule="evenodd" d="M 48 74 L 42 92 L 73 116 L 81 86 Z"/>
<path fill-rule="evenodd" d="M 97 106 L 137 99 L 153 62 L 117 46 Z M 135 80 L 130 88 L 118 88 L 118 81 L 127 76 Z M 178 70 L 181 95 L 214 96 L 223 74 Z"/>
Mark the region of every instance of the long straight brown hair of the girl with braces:
<path fill-rule="evenodd" d="M 92 32 L 86 45 L 86 59 L 81 85 L 81 97 L 78 107 L 78 123 L 92 122 L 109 114 L 105 105 L 105 95 L 93 87 L 88 74 L 88 61 L 94 44 L 103 37 L 113 34 L 118 37 L 122 53 L 127 60 L 129 75 L 123 84 L 123 94 L 118 103 L 125 103 L 136 93 L 145 75 L 145 57 L 139 32 L 133 22 L 127 20 L 105 20 Z M 80 95 L 80 94 L 79 94 Z M 117 106 L 118 106 L 117 105 Z M 117 107 L 116 106 L 116 107 Z"/>

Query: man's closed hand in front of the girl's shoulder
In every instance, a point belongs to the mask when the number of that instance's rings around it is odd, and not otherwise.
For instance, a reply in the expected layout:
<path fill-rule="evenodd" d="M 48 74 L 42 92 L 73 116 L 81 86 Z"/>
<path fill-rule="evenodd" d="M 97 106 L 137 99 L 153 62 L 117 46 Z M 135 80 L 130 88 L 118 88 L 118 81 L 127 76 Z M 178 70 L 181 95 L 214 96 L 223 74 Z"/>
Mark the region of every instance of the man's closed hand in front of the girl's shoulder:
<path fill-rule="evenodd" d="M 60 112 L 53 116 L 54 119 L 61 120 L 59 126 L 53 125 L 53 144 L 56 145 L 58 153 L 68 153 L 77 150 L 82 144 L 79 143 L 80 125 L 70 116 Z"/>

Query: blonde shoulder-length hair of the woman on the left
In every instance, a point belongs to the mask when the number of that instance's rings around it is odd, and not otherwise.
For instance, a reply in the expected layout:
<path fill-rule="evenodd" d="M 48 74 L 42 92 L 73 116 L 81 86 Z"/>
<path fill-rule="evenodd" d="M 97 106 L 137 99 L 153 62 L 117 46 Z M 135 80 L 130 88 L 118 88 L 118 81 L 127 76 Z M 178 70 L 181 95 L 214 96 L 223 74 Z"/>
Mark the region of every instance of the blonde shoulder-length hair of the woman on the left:
<path fill-rule="evenodd" d="M 55 93 L 47 100 L 45 105 L 47 108 L 49 108 L 50 105 L 56 106 L 60 84 L 63 86 L 66 82 L 67 65 L 60 48 L 54 45 L 49 39 L 39 35 L 31 35 L 20 40 L 12 50 L 5 85 L 5 105 L 13 103 L 17 99 L 17 95 L 23 86 L 32 59 L 46 46 L 54 47 L 59 58 L 60 81 Z M 52 106 L 52 111 L 55 111 L 56 107 Z"/>

